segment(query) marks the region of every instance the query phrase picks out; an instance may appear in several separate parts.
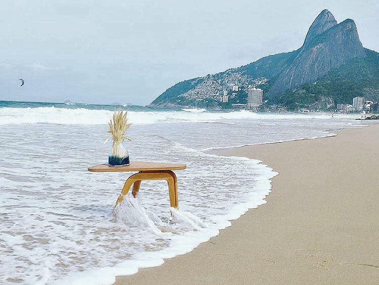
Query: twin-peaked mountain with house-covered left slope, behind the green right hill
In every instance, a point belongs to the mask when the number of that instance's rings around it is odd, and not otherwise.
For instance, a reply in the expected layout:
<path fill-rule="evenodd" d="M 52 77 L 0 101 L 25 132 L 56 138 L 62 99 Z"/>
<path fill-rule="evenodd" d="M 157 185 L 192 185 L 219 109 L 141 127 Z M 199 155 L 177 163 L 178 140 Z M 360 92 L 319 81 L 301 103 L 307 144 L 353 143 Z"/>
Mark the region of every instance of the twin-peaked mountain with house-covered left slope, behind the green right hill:
<path fill-rule="evenodd" d="M 366 57 L 355 22 L 346 19 L 337 23 L 333 14 L 323 10 L 313 21 L 298 50 L 263 57 L 217 74 L 181 81 L 168 88 L 149 106 L 230 108 L 233 103 L 246 104 L 249 85 L 262 88 L 265 99 L 277 104 L 282 102 L 278 100 L 280 94 L 315 82 L 351 60 Z M 219 94 L 224 90 L 231 94 L 229 90 L 234 84 L 239 85 L 241 90 L 233 93 L 228 104 L 218 102 Z"/>

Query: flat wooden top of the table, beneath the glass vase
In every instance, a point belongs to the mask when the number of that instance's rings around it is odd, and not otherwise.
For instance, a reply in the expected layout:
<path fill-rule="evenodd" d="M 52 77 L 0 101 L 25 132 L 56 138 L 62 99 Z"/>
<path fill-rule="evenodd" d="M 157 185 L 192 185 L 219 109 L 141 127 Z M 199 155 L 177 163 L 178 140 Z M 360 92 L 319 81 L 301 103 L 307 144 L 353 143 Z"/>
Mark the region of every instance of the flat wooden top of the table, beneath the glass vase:
<path fill-rule="evenodd" d="M 161 170 L 181 170 L 187 166 L 182 163 L 164 163 L 150 161 L 131 161 L 128 166 L 111 167 L 107 163 L 88 167 L 91 172 L 119 172 L 119 171 L 161 171 Z"/>

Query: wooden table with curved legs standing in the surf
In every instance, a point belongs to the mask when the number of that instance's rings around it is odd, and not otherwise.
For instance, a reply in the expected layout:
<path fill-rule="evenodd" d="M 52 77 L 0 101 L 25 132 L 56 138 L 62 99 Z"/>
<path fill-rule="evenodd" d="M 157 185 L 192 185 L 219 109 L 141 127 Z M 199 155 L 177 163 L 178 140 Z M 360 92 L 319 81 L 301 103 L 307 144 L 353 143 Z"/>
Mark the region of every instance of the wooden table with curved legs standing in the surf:
<path fill-rule="evenodd" d="M 128 166 L 110 167 L 108 164 L 99 164 L 88 168 L 91 172 L 120 172 L 138 171 L 131 175 L 125 182 L 121 194 L 117 199 L 115 207 L 122 202 L 124 196 L 128 194 L 133 185 L 132 195 L 135 198 L 139 191 L 139 185 L 143 180 L 166 180 L 168 183 L 168 193 L 170 196 L 170 206 L 178 208 L 178 185 L 176 175 L 173 170 L 185 169 L 187 166 L 181 163 L 161 163 L 147 161 L 132 161 Z"/>

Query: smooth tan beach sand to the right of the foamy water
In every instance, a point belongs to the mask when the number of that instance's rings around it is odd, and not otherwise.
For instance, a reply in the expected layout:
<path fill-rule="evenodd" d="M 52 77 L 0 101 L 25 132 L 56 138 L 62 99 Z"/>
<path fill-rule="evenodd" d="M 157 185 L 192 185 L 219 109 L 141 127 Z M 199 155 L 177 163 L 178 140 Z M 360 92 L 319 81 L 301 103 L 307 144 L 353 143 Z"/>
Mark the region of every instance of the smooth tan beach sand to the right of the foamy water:
<path fill-rule="evenodd" d="M 267 204 L 115 284 L 379 284 L 379 125 L 337 133 L 218 151 L 279 172 Z"/>

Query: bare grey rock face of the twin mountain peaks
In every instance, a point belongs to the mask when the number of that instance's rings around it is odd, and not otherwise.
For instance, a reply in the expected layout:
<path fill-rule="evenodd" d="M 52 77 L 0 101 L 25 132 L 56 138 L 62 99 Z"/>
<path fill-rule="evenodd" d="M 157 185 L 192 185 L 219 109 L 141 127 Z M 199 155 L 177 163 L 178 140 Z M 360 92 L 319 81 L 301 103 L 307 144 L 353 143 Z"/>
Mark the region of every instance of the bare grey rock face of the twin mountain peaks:
<path fill-rule="evenodd" d="M 366 53 L 353 20 L 337 23 L 328 11 L 322 11 L 309 28 L 304 45 L 294 61 L 278 76 L 271 88 L 275 95 L 304 83 L 314 82 L 331 69 Z"/>

